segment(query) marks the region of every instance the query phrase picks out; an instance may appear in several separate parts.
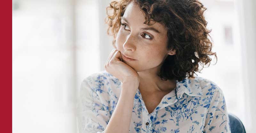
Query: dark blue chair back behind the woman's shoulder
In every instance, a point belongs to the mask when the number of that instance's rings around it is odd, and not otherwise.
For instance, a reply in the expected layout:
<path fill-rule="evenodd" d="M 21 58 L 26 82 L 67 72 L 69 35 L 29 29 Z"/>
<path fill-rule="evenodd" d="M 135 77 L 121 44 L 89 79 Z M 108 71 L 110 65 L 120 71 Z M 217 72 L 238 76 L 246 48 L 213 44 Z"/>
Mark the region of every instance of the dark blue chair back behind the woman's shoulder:
<path fill-rule="evenodd" d="M 228 113 L 231 133 L 245 133 L 244 125 L 236 115 Z"/>

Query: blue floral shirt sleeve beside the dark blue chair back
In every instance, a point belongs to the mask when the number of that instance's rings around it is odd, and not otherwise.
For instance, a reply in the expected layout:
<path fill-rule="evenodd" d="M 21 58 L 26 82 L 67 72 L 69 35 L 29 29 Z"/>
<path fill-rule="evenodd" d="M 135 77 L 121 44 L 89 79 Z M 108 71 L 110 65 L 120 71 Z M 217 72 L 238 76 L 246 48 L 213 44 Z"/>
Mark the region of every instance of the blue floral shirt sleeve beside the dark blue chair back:
<path fill-rule="evenodd" d="M 213 92 L 212 102 L 206 114 L 204 133 L 231 133 L 223 92 L 218 87 Z"/>

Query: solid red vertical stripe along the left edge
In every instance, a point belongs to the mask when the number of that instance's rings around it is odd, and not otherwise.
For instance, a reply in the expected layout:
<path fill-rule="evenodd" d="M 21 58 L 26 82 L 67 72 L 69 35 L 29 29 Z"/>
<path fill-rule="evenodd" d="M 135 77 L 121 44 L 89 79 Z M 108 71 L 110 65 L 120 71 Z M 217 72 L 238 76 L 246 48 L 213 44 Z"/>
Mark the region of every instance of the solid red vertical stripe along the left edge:
<path fill-rule="evenodd" d="M 0 89 L 1 120 L 0 132 L 12 132 L 12 0 L 1 1 L 1 44 L 0 44 Z"/>

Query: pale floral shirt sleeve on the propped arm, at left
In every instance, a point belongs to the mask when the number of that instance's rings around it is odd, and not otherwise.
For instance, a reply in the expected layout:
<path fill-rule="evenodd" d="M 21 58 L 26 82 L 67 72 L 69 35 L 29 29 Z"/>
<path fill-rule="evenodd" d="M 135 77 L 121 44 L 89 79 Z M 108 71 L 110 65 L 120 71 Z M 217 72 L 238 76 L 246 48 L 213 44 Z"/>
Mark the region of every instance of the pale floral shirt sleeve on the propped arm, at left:
<path fill-rule="evenodd" d="M 109 122 L 109 113 L 100 101 L 97 87 L 84 80 L 80 87 L 76 117 L 79 133 L 103 133 Z"/>

